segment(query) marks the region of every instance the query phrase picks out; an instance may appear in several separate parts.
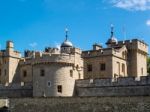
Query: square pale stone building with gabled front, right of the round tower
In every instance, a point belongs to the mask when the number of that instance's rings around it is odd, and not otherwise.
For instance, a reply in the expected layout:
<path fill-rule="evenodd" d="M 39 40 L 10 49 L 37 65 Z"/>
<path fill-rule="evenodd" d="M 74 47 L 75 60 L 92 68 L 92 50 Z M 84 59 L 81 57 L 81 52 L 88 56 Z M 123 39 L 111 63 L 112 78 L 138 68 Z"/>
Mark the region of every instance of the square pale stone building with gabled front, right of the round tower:
<path fill-rule="evenodd" d="M 107 48 L 94 44 L 83 51 L 84 78 L 118 78 L 147 76 L 148 45 L 138 39 L 117 41 L 111 31 Z"/>

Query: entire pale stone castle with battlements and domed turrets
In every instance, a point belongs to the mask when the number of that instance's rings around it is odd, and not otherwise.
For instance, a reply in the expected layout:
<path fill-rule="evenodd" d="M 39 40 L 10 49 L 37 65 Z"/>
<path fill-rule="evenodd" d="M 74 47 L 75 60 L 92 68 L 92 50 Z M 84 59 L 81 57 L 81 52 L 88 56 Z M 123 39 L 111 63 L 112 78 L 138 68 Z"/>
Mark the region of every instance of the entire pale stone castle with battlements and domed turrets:
<path fill-rule="evenodd" d="M 76 82 L 83 86 L 85 79 L 147 76 L 148 45 L 143 41 L 117 41 L 111 27 L 107 48 L 94 44 L 93 50 L 81 51 L 68 40 L 68 30 L 65 37 L 60 49 L 26 50 L 24 57 L 7 41 L 0 51 L 0 96 L 10 90 L 20 96 L 74 96 Z"/>

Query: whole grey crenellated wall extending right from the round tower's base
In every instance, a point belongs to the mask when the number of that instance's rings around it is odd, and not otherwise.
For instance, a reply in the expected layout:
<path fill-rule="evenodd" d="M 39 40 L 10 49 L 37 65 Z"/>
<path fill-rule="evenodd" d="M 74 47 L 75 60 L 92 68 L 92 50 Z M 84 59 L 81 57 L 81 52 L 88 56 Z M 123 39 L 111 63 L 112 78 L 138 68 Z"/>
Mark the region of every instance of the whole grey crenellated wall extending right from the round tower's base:
<path fill-rule="evenodd" d="M 76 81 L 77 96 L 150 96 L 150 77 Z"/>

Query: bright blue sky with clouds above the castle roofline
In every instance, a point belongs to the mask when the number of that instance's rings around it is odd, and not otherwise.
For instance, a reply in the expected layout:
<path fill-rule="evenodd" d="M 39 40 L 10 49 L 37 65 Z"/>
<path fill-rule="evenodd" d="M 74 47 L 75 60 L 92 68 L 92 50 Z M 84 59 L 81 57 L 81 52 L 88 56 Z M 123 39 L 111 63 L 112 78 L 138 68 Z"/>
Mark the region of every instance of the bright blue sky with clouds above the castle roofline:
<path fill-rule="evenodd" d="M 0 0 L 1 49 L 6 40 L 21 52 L 59 46 L 67 27 L 74 46 L 87 50 L 105 45 L 110 24 L 118 40 L 150 44 L 150 0 Z"/>

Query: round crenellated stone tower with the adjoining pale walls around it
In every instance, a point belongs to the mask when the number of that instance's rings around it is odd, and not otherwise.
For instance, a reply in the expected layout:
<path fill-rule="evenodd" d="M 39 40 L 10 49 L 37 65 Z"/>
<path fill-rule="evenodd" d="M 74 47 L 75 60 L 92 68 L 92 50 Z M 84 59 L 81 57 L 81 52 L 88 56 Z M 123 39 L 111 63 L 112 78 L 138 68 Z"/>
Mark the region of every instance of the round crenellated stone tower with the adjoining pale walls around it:
<path fill-rule="evenodd" d="M 73 96 L 75 80 L 83 79 L 80 49 L 71 45 L 26 53 L 19 63 L 21 81 L 33 83 L 33 96 Z"/>

